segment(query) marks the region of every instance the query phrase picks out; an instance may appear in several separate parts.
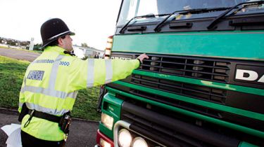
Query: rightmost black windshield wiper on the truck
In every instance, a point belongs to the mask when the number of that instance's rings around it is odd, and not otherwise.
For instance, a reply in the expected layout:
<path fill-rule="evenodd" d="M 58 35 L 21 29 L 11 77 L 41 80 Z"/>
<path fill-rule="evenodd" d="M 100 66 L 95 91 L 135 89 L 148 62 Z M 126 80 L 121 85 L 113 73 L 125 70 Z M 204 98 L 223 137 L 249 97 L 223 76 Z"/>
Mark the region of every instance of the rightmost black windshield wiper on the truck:
<path fill-rule="evenodd" d="M 242 6 L 242 8 L 246 8 L 247 6 L 252 6 L 252 5 L 259 5 L 264 3 L 264 1 L 249 1 L 249 2 L 244 2 L 244 3 L 239 3 L 236 6 L 233 6 L 232 8 L 226 10 L 224 13 L 220 14 L 217 18 L 215 18 L 212 22 L 210 22 L 210 25 L 208 25 L 207 29 L 215 29 L 215 25 L 219 22 L 220 19 L 224 18 L 225 15 L 230 13 L 231 10 L 234 10 L 238 6 Z M 239 8 L 241 10 L 242 8 Z"/>

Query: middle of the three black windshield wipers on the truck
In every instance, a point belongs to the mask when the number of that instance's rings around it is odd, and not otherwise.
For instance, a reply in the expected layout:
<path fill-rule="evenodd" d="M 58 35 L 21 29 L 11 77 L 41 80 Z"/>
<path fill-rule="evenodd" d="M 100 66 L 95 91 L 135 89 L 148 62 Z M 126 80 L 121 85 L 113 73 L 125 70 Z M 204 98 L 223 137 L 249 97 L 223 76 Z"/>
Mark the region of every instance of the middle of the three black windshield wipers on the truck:
<path fill-rule="evenodd" d="M 195 9 L 189 9 L 189 10 L 176 10 L 173 13 L 170 13 L 170 15 L 168 15 L 166 18 L 164 18 L 161 22 L 159 22 L 158 25 L 156 25 L 154 31 L 161 31 L 161 27 L 162 27 L 163 23 L 166 20 L 168 20 L 168 18 L 170 18 L 170 16 L 172 16 L 175 13 L 178 13 L 178 14 L 187 14 L 187 13 L 198 14 L 198 13 L 209 13 L 209 12 L 213 12 L 213 11 L 227 10 L 227 9 L 230 9 L 230 7 L 195 8 Z"/>

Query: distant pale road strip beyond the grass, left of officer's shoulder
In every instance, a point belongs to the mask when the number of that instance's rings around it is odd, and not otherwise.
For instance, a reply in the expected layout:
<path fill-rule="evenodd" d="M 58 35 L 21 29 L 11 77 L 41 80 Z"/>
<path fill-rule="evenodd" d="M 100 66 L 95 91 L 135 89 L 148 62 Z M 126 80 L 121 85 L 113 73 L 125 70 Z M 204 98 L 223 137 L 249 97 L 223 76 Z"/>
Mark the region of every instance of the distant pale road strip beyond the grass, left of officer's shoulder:
<path fill-rule="evenodd" d="M 29 52 L 24 50 L 0 48 L 0 55 L 32 62 L 34 59 L 39 57 L 40 54 L 37 52 Z"/>

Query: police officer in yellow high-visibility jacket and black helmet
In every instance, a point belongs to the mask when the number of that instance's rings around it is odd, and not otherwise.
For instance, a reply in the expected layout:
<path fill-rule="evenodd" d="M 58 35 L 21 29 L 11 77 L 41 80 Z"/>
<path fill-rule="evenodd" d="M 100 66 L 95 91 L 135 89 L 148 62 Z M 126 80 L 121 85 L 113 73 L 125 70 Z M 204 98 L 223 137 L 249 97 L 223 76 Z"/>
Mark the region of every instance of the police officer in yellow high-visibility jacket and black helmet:
<path fill-rule="evenodd" d="M 47 20 L 41 27 L 44 52 L 25 72 L 20 90 L 21 139 L 25 146 L 65 146 L 69 113 L 80 89 L 111 83 L 129 76 L 144 58 L 77 59 L 63 20 Z"/>

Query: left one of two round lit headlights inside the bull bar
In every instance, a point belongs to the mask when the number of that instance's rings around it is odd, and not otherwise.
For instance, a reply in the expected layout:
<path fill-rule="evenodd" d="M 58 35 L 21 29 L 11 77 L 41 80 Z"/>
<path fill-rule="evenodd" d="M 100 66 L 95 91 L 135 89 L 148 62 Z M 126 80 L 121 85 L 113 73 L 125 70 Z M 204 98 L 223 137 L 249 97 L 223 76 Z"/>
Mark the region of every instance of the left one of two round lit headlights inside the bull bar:
<path fill-rule="evenodd" d="M 130 147 L 132 136 L 129 131 L 122 129 L 118 132 L 118 144 L 122 147 Z"/>

